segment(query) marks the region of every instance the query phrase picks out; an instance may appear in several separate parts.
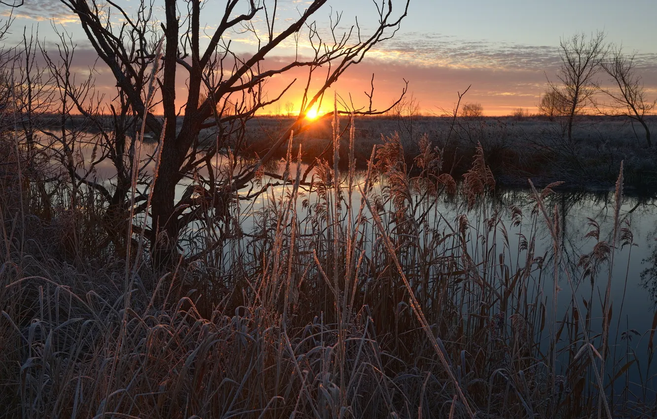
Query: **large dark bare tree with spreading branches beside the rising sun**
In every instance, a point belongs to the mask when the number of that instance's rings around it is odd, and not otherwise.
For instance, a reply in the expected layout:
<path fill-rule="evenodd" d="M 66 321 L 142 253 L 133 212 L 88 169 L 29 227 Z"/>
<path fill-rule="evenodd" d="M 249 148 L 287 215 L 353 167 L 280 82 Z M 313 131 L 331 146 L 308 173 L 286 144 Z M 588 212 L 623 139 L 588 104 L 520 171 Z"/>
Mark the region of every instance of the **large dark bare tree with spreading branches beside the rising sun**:
<path fill-rule="evenodd" d="M 401 0 L 399 12 L 394 12 L 392 1 L 375 3 L 378 23 L 367 35 L 357 22 L 340 32 L 342 15 L 334 13 L 327 34 L 311 20 L 327 0 L 311 1 L 298 18 L 284 23 L 275 19 L 276 0 L 229 0 L 222 16 L 213 16 L 219 23 L 210 33 L 208 45 L 202 47 L 200 0 L 164 0 L 162 20 L 158 20 L 153 4 L 147 0 L 137 3 L 133 15 L 114 2 L 60 1 L 78 16 L 91 45 L 111 70 L 122 104 L 145 121 L 154 137 L 161 139 L 158 170 L 147 200 L 152 203 L 152 229 L 148 236 L 155 263 L 177 259 L 180 232 L 204 219 L 208 209 L 215 214 L 217 224 L 229 229 L 227 209 L 237 199 L 236 191 L 250 185 L 260 167 L 273 158 L 292 132 L 308 129 L 310 121 L 304 118 L 307 110 L 321 103 L 326 90 L 347 68 L 361 62 L 374 45 L 396 33 L 409 5 L 409 0 Z M 257 41 L 255 53 L 241 55 L 233 49 L 227 35 L 236 31 Z M 313 55 L 307 59 L 296 56 L 284 65 L 265 70 L 263 60 L 271 51 L 286 39 L 298 39 L 302 31 L 307 34 Z M 157 53 L 158 39 L 163 39 L 162 55 Z M 160 65 L 160 59 L 162 70 L 149 81 L 150 68 Z M 261 108 L 279 100 L 296 79 L 271 96 L 263 89 L 265 82 L 295 68 L 307 69 L 298 118 L 274 139 L 269 151 L 257 162 L 240 159 L 234 151 L 244 146 L 246 122 Z M 181 77 L 187 79 L 185 91 L 176 86 L 176 79 Z M 148 106 L 150 89 L 158 91 L 157 102 L 164 111 L 164 121 L 156 118 Z M 203 95 L 207 99 L 200 100 Z M 176 103 L 180 97 L 185 97 L 181 109 Z M 370 105 L 342 112 L 385 111 Z M 327 114 L 327 118 L 330 116 Z M 204 129 L 214 129 L 214 141 L 202 141 Z M 233 152 L 226 152 L 227 149 Z M 212 162 L 222 153 L 231 167 L 225 176 L 216 173 Z M 209 174 L 202 176 L 202 169 Z M 185 178 L 194 179 L 194 193 L 189 190 L 181 200 L 176 200 L 176 185 Z M 147 207 L 143 204 L 138 210 L 145 211 Z"/>

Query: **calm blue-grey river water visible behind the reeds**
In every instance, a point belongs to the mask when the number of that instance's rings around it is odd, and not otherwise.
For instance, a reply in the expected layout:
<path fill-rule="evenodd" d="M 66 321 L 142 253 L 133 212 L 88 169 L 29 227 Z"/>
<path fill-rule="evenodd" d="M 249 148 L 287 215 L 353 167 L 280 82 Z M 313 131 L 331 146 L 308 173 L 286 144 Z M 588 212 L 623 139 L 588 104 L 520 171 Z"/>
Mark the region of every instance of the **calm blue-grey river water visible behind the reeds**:
<path fill-rule="evenodd" d="M 89 162 L 92 153 L 92 147 L 86 146 L 80 148 L 85 162 Z M 154 144 L 146 144 L 142 152 L 152 153 Z M 219 165 L 222 165 L 219 162 Z M 107 160 L 96 166 L 93 177 L 97 179 L 111 179 L 114 175 L 112 164 Z M 111 181 L 106 181 L 111 184 Z M 177 198 L 182 196 L 185 187 L 191 181 L 184 181 L 177 188 Z M 269 197 L 280 196 L 284 193 L 283 187 L 274 187 L 269 192 Z M 530 226 L 526 225 L 530 220 L 530 212 L 533 208 L 533 201 L 530 199 L 530 190 L 528 189 L 504 189 L 498 190 L 487 196 L 484 202 L 480 203 L 486 207 L 487 213 L 493 213 L 497 209 L 501 223 L 508 231 L 510 244 L 510 258 L 505 263 L 510 266 L 516 265 L 516 259 L 520 259 L 519 265 L 524 265 L 526 251 L 518 252 L 520 243 L 520 233 L 526 233 Z M 316 200 L 317 197 L 307 196 L 309 200 Z M 266 204 L 267 196 L 260 196 L 252 203 L 242 202 L 240 204 L 242 213 L 241 227 L 244 231 L 249 231 L 254 227 L 252 212 L 257 211 Z M 352 205 L 358 208 L 360 196 L 357 192 L 353 194 Z M 613 225 L 614 225 L 614 194 L 609 192 L 572 192 L 557 191 L 550 196 L 546 202 L 548 208 L 554 208 L 556 205 L 560 212 L 560 225 L 562 233 L 560 239 L 560 249 L 564 259 L 560 265 L 560 283 L 562 290 L 558 293 L 558 313 L 557 320 L 560 321 L 568 311 L 572 310 L 573 296 L 576 296 L 579 308 L 585 311 L 583 300 L 593 301 L 591 311 L 592 322 L 589 336 L 594 336 L 602 330 L 601 321 L 601 301 L 604 299 L 606 284 L 608 279 L 608 265 L 602 264 L 599 273 L 595 276 L 593 283 L 590 278 L 585 278 L 583 268 L 578 266 L 580 255 L 587 254 L 593 250 L 597 243 L 595 238 L 585 237 L 587 232 L 591 231 L 589 219 L 595 219 L 600 226 L 600 240 L 611 242 Z M 443 199 L 437 203 L 438 213 L 444 217 L 447 223 L 457 225 L 455 220 L 461 213 L 466 212 L 464 202 L 461 198 Z M 523 225 L 512 226 L 512 214 L 510 208 L 516 206 L 522 209 L 524 213 Z M 306 211 L 299 203 L 298 211 Z M 479 231 L 483 231 L 484 219 L 482 211 L 479 208 L 476 211 L 467 213 L 470 225 Z M 639 363 L 646 361 L 646 351 L 648 348 L 648 338 L 650 328 L 655 315 L 657 303 L 657 198 L 655 196 L 631 196 L 623 197 L 623 204 L 620 211 L 621 227 L 627 227 L 633 234 L 633 246 L 620 247 L 618 240 L 618 249 L 614 255 L 614 268 L 612 270 L 611 296 L 613 301 L 612 322 L 610 324 L 610 347 L 621 351 L 628 343 L 624 336 L 628 331 L 631 336 L 631 347 L 634 348 Z M 445 228 L 446 224 L 445 223 Z M 619 233 L 620 235 L 620 233 Z M 503 249 L 501 234 L 497 235 L 497 246 L 500 252 Z M 499 252 L 498 252 L 499 253 Z M 537 224 L 537 242 L 535 256 L 541 256 L 546 261 L 547 268 L 544 271 L 546 278 L 550 278 L 545 286 L 532 289 L 533 293 L 539 294 L 539 300 L 545 301 L 547 307 L 550 307 L 552 301 L 551 288 L 551 261 L 553 261 L 553 240 L 549 235 L 545 221 L 539 217 Z M 476 261 L 475 261 L 476 262 Z M 574 280 L 574 294 L 566 278 L 566 270 Z M 536 294 L 535 294 L 536 295 Z M 548 310 L 550 313 L 551 310 Z M 570 317 L 570 316 L 568 316 Z M 548 324 L 550 324 L 548 322 Z M 565 332 L 564 332 L 565 333 Z M 549 334 L 546 336 L 545 343 L 549 343 Z M 565 334 L 564 334 L 565 336 Z M 579 345 L 578 345 L 579 347 Z M 623 349 L 624 350 L 624 349 Z M 642 366 L 643 370 L 645 368 Z M 654 369 L 654 368 L 652 368 Z M 631 369 L 631 378 L 638 382 L 638 370 Z M 651 387 L 654 388 L 654 382 Z M 624 384 L 623 384 L 624 385 Z M 638 384 L 631 384 L 631 387 Z"/>

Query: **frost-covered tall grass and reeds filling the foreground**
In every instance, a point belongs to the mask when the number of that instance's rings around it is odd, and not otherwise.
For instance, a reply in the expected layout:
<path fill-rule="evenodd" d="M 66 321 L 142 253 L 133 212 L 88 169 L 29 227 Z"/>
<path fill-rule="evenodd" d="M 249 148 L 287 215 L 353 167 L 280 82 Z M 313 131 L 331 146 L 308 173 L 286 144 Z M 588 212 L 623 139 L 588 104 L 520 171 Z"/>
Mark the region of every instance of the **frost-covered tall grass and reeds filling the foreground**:
<path fill-rule="evenodd" d="M 208 209 L 190 233 L 205 251 L 165 272 L 148 263 L 143 229 L 131 234 L 143 254 L 102 237 L 90 189 L 76 192 L 83 206 L 70 205 L 64 186 L 45 203 L 49 179 L 16 164 L 0 202 L 2 414 L 654 416 L 650 361 L 627 361 L 629 343 L 608 347 L 609 286 L 600 307 L 589 299 L 582 310 L 574 276 L 583 273 L 563 269 L 558 210 L 547 209 L 554 185 L 534 190 L 535 211 L 510 209 L 505 225 L 506 209 L 483 204 L 495 181 L 481 146 L 459 188 L 442 173 L 440 150 L 420 142 L 415 170 L 398 136 L 375 147 L 359 175 L 348 123 L 342 139 L 334 119 L 332 167 L 320 162 L 309 184 L 290 139 L 283 185 L 250 206 L 235 192 L 219 244 Z M 17 163 L 28 152 L 2 150 Z M 622 173 L 618 185 L 620 203 Z M 462 213 L 442 213 L 444 199 L 463 200 Z M 540 257 L 543 225 L 554 246 Z M 613 268 L 613 257 L 599 259 Z M 570 303 L 557 299 L 560 269 Z M 643 394 L 618 395 L 615 383 L 637 372 Z"/>

